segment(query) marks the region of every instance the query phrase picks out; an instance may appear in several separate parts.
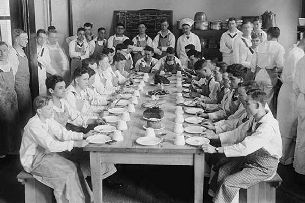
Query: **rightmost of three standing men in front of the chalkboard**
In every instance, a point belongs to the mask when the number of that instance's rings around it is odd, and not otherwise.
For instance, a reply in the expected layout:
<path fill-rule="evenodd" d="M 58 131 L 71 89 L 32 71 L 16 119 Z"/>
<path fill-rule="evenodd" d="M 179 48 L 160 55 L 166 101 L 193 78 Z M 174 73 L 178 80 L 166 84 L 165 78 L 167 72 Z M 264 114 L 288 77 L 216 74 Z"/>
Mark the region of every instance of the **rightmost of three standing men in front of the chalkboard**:
<path fill-rule="evenodd" d="M 176 37 L 168 30 L 169 23 L 166 19 L 161 21 L 161 30 L 157 33 L 153 40 L 154 57 L 158 60 L 166 56 L 166 49 L 168 47 L 175 48 Z"/>

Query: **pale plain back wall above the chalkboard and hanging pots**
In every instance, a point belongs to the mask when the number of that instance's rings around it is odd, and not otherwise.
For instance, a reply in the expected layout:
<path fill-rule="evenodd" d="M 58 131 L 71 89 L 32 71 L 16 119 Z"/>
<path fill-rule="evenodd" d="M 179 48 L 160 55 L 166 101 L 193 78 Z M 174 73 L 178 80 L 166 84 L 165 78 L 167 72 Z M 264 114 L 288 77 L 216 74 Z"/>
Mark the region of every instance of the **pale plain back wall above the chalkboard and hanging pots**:
<path fill-rule="evenodd" d="M 114 10 L 162 9 L 173 10 L 173 28 L 176 21 L 194 18 L 198 11 L 207 14 L 207 20 L 223 20 L 231 16 L 261 15 L 265 10 L 276 13 L 281 29 L 280 43 L 287 50 L 296 42 L 297 18 L 301 13 L 301 0 L 73 0 L 73 30 L 85 22 L 94 24 L 94 31 L 105 27 L 112 33 Z M 62 13 L 59 13 L 62 15 Z"/>

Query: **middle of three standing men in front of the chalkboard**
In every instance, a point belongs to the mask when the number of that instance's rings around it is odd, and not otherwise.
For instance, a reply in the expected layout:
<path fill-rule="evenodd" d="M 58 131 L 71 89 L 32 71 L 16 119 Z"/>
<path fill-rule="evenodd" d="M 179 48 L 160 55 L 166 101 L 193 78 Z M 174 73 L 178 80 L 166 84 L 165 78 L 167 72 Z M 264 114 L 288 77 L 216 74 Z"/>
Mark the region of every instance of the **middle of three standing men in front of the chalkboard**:
<path fill-rule="evenodd" d="M 153 40 L 145 33 L 146 29 L 147 29 L 146 24 L 143 22 L 139 22 L 138 23 L 139 34 L 132 39 L 132 41 L 134 42 L 134 47 L 132 49 L 132 52 L 134 53 L 133 56 L 134 65 L 140 58 L 144 56 L 144 48 L 146 46 L 150 46 L 150 47 L 153 46 Z"/>

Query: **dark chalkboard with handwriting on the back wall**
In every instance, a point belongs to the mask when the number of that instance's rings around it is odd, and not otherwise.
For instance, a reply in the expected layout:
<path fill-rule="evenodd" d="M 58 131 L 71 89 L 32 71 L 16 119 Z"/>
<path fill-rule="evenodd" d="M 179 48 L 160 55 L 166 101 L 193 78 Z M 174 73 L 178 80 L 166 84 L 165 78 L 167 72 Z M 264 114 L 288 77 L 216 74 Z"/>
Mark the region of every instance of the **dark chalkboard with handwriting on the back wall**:
<path fill-rule="evenodd" d="M 169 22 L 169 30 L 173 27 L 173 11 L 169 10 L 155 10 L 145 9 L 138 11 L 114 11 L 113 33 L 115 33 L 115 26 L 117 23 L 125 25 L 125 35 L 133 39 L 138 34 L 139 22 L 146 24 L 146 34 L 154 39 L 157 32 L 161 30 L 161 21 L 167 19 Z"/>

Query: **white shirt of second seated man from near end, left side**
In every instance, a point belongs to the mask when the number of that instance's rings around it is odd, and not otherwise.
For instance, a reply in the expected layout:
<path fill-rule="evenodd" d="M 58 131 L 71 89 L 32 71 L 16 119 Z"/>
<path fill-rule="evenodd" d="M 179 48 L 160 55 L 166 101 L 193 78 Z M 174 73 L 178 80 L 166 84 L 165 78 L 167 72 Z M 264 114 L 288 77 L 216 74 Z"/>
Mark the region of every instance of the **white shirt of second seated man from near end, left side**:
<path fill-rule="evenodd" d="M 83 128 L 87 128 L 87 121 L 88 121 L 88 117 L 87 116 L 83 116 L 80 111 L 78 111 L 77 109 L 73 108 L 70 103 L 68 103 L 65 99 L 60 99 L 60 108 L 56 107 L 55 105 L 53 105 L 53 111 L 54 112 L 58 112 L 58 113 L 64 113 L 65 112 L 65 107 L 68 110 L 68 123 L 71 123 L 75 126 L 82 126 Z M 54 118 L 54 114 L 52 116 L 52 118 Z"/>

